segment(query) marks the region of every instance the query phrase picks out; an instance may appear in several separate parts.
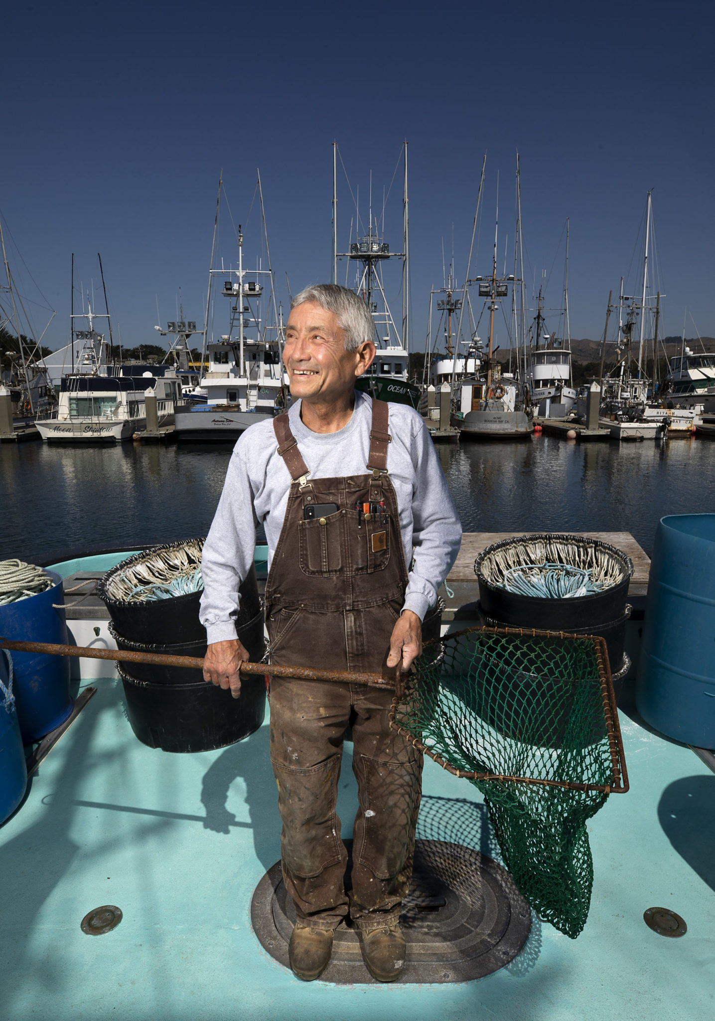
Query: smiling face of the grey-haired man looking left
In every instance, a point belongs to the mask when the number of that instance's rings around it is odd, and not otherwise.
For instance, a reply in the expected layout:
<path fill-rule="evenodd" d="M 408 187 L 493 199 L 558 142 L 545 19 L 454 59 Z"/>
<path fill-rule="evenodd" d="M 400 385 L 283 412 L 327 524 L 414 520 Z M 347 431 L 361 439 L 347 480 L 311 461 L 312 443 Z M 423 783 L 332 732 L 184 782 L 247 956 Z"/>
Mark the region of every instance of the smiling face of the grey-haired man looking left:
<path fill-rule="evenodd" d="M 374 344 L 346 351 L 345 331 L 335 312 L 314 301 L 291 311 L 286 327 L 284 364 L 291 393 L 308 403 L 331 403 L 352 392 L 375 355 Z"/>

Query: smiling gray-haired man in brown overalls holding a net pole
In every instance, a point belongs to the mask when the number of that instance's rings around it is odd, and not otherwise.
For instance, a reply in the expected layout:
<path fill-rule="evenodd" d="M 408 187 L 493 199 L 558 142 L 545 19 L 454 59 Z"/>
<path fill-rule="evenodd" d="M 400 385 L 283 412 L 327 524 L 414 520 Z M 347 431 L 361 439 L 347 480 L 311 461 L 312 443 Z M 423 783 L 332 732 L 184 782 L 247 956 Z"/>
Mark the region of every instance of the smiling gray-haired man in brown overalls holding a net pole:
<path fill-rule="evenodd" d="M 404 404 L 355 390 L 375 357 L 365 302 L 336 284 L 291 303 L 284 364 L 293 404 L 242 434 L 204 545 L 204 677 L 234 697 L 249 654 L 236 637 L 239 585 L 256 525 L 268 542 L 265 617 L 272 664 L 407 670 L 439 636 L 437 590 L 461 527 L 429 433 Z M 424 624 L 422 622 L 424 621 Z M 412 872 L 422 758 L 390 729 L 393 692 L 273 678 L 270 758 L 283 821 L 282 864 L 297 922 L 294 973 L 317 978 L 336 927 L 357 928 L 370 974 L 394 981 L 405 961 L 400 906 Z M 343 740 L 352 727 L 359 807 L 352 889 L 336 815 Z"/>

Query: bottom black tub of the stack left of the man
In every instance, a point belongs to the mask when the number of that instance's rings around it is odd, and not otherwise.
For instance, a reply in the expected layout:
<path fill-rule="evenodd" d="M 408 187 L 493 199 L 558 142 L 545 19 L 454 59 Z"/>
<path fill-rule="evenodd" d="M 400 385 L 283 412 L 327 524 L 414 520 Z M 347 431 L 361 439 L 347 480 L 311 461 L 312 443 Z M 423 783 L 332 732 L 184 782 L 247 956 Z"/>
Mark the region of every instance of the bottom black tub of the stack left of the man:
<path fill-rule="evenodd" d="M 211 751 L 241 741 L 257 730 L 265 715 L 265 680 L 244 677 L 234 698 L 202 680 L 189 684 L 137 681 L 117 668 L 124 687 L 132 730 L 150 748 Z"/>

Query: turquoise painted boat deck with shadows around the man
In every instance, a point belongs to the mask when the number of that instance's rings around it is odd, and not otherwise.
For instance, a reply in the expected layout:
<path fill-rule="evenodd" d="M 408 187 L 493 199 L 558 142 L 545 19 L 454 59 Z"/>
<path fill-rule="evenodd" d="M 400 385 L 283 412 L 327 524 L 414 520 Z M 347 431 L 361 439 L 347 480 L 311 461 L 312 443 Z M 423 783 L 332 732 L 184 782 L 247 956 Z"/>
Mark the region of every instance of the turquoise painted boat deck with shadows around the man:
<path fill-rule="evenodd" d="M 589 824 L 595 883 L 576 940 L 534 917 L 520 955 L 487 978 L 347 986 L 300 982 L 251 928 L 253 891 L 279 857 L 267 721 L 231 747 L 168 755 L 135 738 L 115 676 L 91 683 L 97 694 L 0 828 L 0 1018 L 715 1016 L 715 775 L 631 716 L 621 713 L 630 792 L 612 795 Z M 357 804 L 351 751 L 346 744 L 340 780 L 346 837 Z M 417 835 L 489 853 L 478 791 L 431 761 L 423 787 Z M 86 935 L 81 920 L 105 904 L 123 920 Z M 648 928 L 643 914 L 654 906 L 681 915 L 687 933 Z"/>

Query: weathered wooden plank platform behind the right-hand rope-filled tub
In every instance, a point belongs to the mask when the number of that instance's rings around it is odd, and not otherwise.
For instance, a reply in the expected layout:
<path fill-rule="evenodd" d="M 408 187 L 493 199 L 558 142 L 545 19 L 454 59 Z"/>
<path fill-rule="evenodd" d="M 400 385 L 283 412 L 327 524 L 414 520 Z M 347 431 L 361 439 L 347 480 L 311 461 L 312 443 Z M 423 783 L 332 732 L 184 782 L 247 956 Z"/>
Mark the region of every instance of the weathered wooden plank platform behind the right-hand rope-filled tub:
<path fill-rule="evenodd" d="M 548 535 L 550 533 L 534 529 L 530 532 L 464 532 L 454 567 L 447 577 L 446 585 L 440 588 L 440 595 L 447 604 L 444 620 L 454 616 L 460 606 L 476 602 L 479 598 L 479 583 L 474 574 L 474 561 L 487 546 L 503 539 L 512 539 L 520 535 Z M 608 542 L 629 556 L 633 562 L 633 576 L 628 586 L 628 598 L 645 600 L 648 592 L 648 578 L 651 572 L 651 561 L 645 549 L 639 545 L 630 532 L 569 532 L 569 535 L 581 535 L 600 542 Z M 449 591 L 448 591 L 449 589 Z M 450 595 L 450 592 L 453 593 Z"/>

